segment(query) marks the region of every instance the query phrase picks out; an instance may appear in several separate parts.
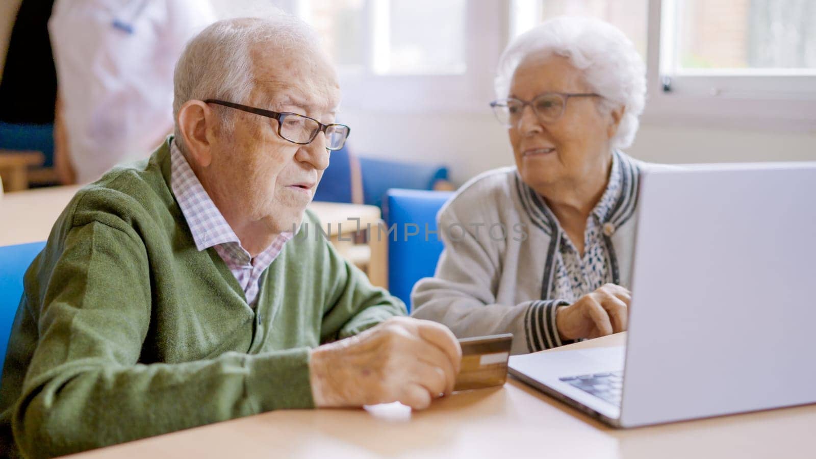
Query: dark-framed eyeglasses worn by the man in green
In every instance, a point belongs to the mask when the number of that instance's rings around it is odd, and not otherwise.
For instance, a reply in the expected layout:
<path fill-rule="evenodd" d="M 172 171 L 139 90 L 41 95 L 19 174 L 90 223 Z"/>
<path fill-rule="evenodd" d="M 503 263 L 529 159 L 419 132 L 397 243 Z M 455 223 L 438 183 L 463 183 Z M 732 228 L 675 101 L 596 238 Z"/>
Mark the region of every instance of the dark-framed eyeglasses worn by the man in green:
<path fill-rule="evenodd" d="M 312 143 L 317 134 L 326 134 L 326 149 L 341 149 L 348 139 L 348 134 L 352 131 L 345 124 L 323 124 L 317 119 L 308 116 L 293 114 L 290 112 L 273 112 L 272 110 L 257 109 L 249 105 L 233 104 L 224 100 L 207 99 L 207 104 L 224 105 L 231 109 L 243 110 L 251 114 L 259 114 L 267 118 L 277 119 L 277 135 L 284 140 L 289 140 L 293 144 L 308 145 Z"/>

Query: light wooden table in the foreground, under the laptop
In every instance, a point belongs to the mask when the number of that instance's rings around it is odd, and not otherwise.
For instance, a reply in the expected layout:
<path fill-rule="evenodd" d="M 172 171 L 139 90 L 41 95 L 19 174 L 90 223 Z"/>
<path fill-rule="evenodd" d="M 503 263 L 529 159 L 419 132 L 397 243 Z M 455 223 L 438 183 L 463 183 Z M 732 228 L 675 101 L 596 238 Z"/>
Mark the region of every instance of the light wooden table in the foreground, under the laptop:
<path fill-rule="evenodd" d="M 624 342 L 619 333 L 544 352 Z M 76 457 L 812 458 L 814 429 L 816 405 L 614 430 L 510 379 L 424 412 L 398 404 L 268 412 Z"/>

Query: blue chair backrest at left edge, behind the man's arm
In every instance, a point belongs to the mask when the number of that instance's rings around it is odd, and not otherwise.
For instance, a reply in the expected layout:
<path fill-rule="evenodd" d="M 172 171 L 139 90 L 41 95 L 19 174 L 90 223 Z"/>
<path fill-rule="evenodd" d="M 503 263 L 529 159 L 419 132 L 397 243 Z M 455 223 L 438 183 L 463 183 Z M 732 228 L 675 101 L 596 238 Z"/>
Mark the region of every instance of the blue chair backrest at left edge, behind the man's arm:
<path fill-rule="evenodd" d="M 6 361 L 11 324 L 23 296 L 23 274 L 46 243 L 0 247 L 0 371 Z"/>

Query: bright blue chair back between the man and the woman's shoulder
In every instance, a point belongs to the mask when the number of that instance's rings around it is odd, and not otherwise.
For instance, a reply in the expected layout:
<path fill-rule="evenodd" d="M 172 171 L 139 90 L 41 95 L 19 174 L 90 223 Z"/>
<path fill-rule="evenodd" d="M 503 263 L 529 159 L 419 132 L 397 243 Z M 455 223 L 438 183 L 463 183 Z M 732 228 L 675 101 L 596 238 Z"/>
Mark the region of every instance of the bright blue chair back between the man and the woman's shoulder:
<path fill-rule="evenodd" d="M 388 290 L 408 305 L 410 291 L 419 279 L 432 277 L 444 248 L 437 230 L 437 212 L 453 192 L 420 189 L 388 189 L 385 194 L 385 221 L 388 228 L 397 224 L 397 240 L 388 235 Z M 409 224 L 413 224 L 407 226 Z M 414 236 L 407 233 L 419 232 Z M 383 237 L 385 234 L 383 233 Z"/>

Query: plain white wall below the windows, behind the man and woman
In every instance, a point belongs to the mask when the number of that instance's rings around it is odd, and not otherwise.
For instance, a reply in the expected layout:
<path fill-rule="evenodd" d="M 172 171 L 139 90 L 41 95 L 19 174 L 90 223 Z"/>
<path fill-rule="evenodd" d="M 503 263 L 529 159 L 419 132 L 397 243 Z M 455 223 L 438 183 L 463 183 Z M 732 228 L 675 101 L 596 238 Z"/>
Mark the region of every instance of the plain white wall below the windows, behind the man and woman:
<path fill-rule="evenodd" d="M 487 109 L 486 109 L 487 112 Z M 452 180 L 511 165 L 507 132 L 492 114 L 373 114 L 341 110 L 357 154 L 447 163 Z M 729 130 L 645 124 L 628 149 L 656 163 L 816 161 L 816 132 Z"/>

